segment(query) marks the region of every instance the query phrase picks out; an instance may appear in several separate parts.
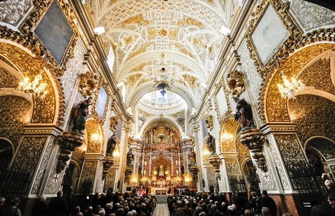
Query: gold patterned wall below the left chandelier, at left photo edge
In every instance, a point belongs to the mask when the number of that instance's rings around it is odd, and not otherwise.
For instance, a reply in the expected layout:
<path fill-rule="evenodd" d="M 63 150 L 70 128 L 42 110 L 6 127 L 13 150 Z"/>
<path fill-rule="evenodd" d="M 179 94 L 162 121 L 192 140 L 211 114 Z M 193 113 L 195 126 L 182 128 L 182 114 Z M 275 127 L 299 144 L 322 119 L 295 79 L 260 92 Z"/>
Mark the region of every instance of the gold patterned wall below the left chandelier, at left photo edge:
<path fill-rule="evenodd" d="M 29 122 L 31 104 L 26 99 L 15 96 L 0 97 L 0 104 L 0 137 L 10 139 L 16 150 L 23 133 L 22 126 Z"/>

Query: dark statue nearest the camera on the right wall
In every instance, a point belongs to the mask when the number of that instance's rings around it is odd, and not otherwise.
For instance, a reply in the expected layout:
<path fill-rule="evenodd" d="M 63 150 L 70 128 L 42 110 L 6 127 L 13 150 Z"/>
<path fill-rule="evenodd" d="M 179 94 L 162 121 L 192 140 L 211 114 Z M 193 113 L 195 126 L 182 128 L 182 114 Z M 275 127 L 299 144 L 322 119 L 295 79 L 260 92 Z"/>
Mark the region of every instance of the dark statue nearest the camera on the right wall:
<path fill-rule="evenodd" d="M 240 124 L 242 131 L 250 130 L 253 125 L 252 110 L 250 105 L 245 101 L 245 99 L 239 99 L 237 97 L 232 97 L 236 103 L 236 113 L 234 114 L 235 120 Z"/>

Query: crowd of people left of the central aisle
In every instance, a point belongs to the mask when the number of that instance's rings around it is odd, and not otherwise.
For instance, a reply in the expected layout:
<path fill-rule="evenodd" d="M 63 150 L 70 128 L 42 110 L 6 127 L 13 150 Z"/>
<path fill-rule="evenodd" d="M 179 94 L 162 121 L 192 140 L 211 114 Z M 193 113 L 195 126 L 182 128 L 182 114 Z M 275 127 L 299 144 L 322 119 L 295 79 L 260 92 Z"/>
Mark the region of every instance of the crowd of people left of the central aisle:
<path fill-rule="evenodd" d="M 129 194 L 109 192 L 98 194 L 92 197 L 91 206 L 81 209 L 76 206 L 71 211 L 71 204 L 63 197 L 63 192 L 57 193 L 49 205 L 45 197 L 39 197 L 31 211 L 31 216 L 152 216 L 156 206 L 155 196 L 130 196 Z M 0 197 L 0 216 L 21 216 L 18 208 L 20 198 L 11 200 L 11 204 L 2 209 L 5 202 Z"/>

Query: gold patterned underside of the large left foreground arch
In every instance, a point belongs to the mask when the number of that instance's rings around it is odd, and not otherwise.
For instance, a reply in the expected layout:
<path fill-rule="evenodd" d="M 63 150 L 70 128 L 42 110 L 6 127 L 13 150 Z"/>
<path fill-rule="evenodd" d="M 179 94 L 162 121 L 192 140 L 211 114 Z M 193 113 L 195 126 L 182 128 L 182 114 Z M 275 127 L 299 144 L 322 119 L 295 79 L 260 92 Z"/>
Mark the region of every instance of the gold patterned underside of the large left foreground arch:
<path fill-rule="evenodd" d="M 32 54 L 28 48 L 12 41 L 0 39 L 0 55 L 18 68 L 15 73 L 13 73 L 14 68 L 8 70 L 18 79 L 28 77 L 33 80 L 42 71 L 41 83 L 46 84 L 47 95 L 44 100 L 33 97 L 33 112 L 29 123 L 51 123 L 61 126 L 65 104 L 62 84 L 55 74 L 55 69 L 46 65 L 46 60 L 42 57 Z"/>

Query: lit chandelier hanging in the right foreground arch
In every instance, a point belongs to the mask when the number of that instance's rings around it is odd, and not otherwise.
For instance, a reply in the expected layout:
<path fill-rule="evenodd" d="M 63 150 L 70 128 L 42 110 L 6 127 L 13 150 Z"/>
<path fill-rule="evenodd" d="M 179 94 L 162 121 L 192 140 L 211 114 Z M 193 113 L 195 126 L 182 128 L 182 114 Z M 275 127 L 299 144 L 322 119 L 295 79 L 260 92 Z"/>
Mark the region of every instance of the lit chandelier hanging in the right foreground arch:
<path fill-rule="evenodd" d="M 296 94 L 301 93 L 305 88 L 305 84 L 303 84 L 300 80 L 296 80 L 292 77 L 291 81 L 287 79 L 283 72 L 281 72 L 281 76 L 284 81 L 284 85 L 277 84 L 280 95 L 282 98 L 288 97 L 295 99 Z"/>

